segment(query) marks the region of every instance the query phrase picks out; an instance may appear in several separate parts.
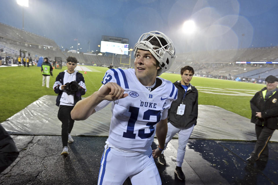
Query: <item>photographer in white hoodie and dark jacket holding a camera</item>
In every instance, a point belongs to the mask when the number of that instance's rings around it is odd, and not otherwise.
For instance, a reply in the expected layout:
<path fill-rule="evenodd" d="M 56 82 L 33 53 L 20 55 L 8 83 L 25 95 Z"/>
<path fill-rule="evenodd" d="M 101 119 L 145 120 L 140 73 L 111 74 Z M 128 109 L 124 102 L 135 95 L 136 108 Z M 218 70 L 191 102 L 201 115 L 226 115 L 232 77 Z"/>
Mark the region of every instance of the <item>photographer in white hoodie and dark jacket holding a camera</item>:
<path fill-rule="evenodd" d="M 81 100 L 81 95 L 85 95 L 87 91 L 83 75 L 74 71 L 76 64 L 76 58 L 69 56 L 67 70 L 58 74 L 53 85 L 55 93 L 58 94 L 56 106 L 59 106 L 58 119 L 62 122 L 63 151 L 61 155 L 64 156 L 68 155 L 67 143 L 73 142 L 70 132 L 74 120 L 71 118 L 70 112 L 77 101 Z"/>

